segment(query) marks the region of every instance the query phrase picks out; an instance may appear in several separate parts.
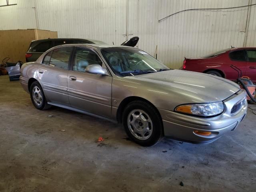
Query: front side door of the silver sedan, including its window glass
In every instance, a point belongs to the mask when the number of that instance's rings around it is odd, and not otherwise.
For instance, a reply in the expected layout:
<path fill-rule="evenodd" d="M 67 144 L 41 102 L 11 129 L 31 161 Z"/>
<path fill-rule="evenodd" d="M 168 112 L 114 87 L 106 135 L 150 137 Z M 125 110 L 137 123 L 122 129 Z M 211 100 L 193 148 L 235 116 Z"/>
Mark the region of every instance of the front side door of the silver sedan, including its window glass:
<path fill-rule="evenodd" d="M 85 68 L 102 66 L 98 54 L 89 48 L 76 47 L 68 73 L 68 97 L 72 107 L 104 117 L 111 116 L 112 76 L 90 74 Z"/>

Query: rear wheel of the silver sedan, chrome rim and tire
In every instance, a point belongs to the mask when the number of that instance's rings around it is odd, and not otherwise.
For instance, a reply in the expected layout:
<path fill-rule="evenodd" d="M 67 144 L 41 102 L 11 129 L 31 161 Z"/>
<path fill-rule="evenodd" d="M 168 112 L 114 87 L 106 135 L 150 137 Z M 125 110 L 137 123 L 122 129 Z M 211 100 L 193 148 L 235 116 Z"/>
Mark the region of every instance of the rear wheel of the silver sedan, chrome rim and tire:
<path fill-rule="evenodd" d="M 30 86 L 30 98 L 34 106 L 39 110 L 46 110 L 51 107 L 47 103 L 42 87 L 37 81 L 33 82 Z"/>

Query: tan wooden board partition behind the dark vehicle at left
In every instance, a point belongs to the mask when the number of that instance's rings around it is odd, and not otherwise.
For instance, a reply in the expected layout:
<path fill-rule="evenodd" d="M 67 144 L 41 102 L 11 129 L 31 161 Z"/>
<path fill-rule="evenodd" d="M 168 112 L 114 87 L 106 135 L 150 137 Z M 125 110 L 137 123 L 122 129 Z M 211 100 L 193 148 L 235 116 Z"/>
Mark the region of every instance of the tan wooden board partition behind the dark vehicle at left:
<path fill-rule="evenodd" d="M 26 62 L 25 53 L 32 40 L 57 37 L 57 32 L 47 30 L 0 30 L 0 64 L 6 57 L 10 57 L 8 62 Z"/>

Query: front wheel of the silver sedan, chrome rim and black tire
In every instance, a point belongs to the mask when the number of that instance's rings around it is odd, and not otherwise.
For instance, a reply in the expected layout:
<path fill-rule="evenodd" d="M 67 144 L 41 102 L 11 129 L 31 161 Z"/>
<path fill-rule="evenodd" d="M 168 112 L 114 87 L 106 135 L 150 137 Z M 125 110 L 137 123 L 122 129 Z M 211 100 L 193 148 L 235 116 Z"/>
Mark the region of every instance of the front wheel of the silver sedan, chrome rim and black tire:
<path fill-rule="evenodd" d="M 124 109 L 122 122 L 128 136 L 142 146 L 152 146 L 163 136 L 162 118 L 147 102 L 129 103 Z"/>

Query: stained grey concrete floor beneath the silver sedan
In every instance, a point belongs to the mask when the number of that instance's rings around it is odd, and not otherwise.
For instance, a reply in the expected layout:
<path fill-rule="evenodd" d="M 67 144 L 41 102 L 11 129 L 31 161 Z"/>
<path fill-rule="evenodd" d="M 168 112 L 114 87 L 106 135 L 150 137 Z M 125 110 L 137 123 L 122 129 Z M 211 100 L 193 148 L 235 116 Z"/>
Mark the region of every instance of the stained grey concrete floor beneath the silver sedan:
<path fill-rule="evenodd" d="M 164 139 L 145 148 L 126 140 L 120 125 L 37 110 L 18 81 L 0 76 L 0 191 L 256 191 L 255 124 L 248 110 L 214 143 Z"/>

